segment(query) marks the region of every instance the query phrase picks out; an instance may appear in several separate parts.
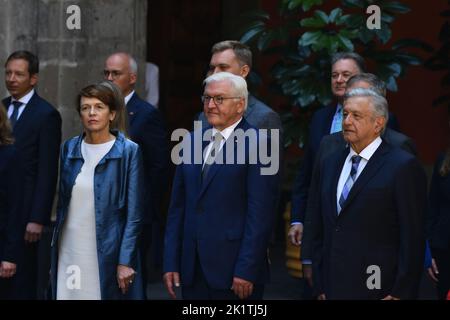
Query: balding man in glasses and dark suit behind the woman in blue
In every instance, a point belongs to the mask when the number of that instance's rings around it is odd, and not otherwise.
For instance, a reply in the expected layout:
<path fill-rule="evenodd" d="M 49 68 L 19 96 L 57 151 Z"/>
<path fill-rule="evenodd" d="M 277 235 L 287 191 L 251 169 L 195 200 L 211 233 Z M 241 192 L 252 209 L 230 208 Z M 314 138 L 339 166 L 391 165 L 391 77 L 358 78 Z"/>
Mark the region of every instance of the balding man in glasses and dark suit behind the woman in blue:
<path fill-rule="evenodd" d="M 145 203 L 144 227 L 141 239 L 141 263 L 143 281 L 148 282 L 146 261 L 149 250 L 155 266 L 160 264 L 162 235 L 160 235 L 161 202 L 167 187 L 168 146 L 166 128 L 158 109 L 142 100 L 135 92 L 137 63 L 128 53 L 114 53 L 106 59 L 104 78 L 114 82 L 125 97 L 128 111 L 130 138 L 142 150 L 147 201 Z M 144 288 L 145 289 L 145 288 Z M 145 291 L 146 292 L 146 291 Z"/>

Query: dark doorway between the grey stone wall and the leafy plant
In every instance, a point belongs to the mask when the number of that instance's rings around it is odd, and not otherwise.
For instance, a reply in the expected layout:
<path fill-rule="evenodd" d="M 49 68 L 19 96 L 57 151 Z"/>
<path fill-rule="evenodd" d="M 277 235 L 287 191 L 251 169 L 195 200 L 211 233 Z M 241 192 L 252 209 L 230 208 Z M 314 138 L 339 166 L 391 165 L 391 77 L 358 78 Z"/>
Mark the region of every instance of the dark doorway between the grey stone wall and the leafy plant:
<path fill-rule="evenodd" d="M 148 1 L 147 60 L 160 68 L 160 108 L 169 133 L 191 129 L 212 44 L 222 39 L 222 1 Z"/>

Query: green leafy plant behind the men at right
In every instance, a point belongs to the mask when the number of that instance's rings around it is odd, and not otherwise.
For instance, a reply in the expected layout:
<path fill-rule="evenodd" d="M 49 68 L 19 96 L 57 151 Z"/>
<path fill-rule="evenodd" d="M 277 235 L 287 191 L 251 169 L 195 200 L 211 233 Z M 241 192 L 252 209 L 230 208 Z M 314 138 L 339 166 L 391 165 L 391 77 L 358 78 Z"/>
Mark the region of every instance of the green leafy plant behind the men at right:
<path fill-rule="evenodd" d="M 259 51 L 276 55 L 271 69 L 272 90 L 289 101 L 281 114 L 285 146 L 307 139 L 309 119 L 319 106 L 332 101 L 330 57 L 338 51 L 357 51 L 374 65 L 374 73 L 397 90 L 397 78 L 410 65 L 422 63 L 411 49 L 432 50 L 416 39 L 389 43 L 395 17 L 410 11 L 399 1 L 342 0 L 329 12 L 321 10 L 324 0 L 280 0 L 276 17 L 264 11 L 248 14 L 241 41 Z M 381 9 L 381 28 L 366 25 L 366 9 Z"/>

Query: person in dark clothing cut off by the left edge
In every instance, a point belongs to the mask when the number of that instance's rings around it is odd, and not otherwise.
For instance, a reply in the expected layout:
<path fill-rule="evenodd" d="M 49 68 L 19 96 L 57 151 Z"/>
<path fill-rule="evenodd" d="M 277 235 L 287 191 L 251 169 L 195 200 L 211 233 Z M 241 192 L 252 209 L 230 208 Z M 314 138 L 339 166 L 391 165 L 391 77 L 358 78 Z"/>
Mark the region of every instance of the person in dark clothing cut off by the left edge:
<path fill-rule="evenodd" d="M 21 173 L 6 110 L 0 106 L 0 300 L 9 299 L 25 224 L 20 206 Z"/>

